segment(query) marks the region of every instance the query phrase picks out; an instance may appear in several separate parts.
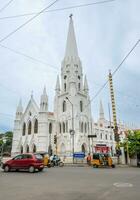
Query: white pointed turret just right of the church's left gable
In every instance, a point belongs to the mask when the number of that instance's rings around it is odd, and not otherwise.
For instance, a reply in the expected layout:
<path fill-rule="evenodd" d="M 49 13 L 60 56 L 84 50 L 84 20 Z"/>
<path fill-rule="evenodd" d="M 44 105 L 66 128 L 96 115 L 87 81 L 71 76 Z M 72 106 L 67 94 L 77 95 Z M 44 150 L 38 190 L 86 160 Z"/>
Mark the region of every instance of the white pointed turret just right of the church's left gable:
<path fill-rule="evenodd" d="M 48 96 L 46 92 L 46 87 L 44 86 L 43 94 L 41 95 L 40 99 L 40 111 L 47 112 L 48 111 Z"/>

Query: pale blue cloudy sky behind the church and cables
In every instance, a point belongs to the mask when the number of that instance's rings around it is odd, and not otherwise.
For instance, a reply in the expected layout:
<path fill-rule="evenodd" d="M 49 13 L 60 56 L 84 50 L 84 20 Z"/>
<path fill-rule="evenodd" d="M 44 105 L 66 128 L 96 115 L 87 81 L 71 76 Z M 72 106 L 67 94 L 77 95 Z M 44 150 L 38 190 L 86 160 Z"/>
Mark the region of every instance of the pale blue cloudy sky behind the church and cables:
<path fill-rule="evenodd" d="M 59 0 L 49 10 L 100 2 L 102 0 Z M 53 0 L 0 0 L 0 41 L 34 15 L 5 18 L 40 12 Z M 83 73 L 86 74 L 92 99 L 108 72 L 114 71 L 140 39 L 140 1 L 114 0 L 80 8 L 45 12 L 9 38 L 0 42 L 0 132 L 13 130 L 20 98 L 24 110 L 31 93 L 39 105 L 44 85 L 53 111 L 57 74 L 61 72 L 68 32 L 73 14 L 75 34 Z M 7 47 L 4 48 L 1 45 Z M 16 54 L 8 48 L 26 54 Z M 114 75 L 117 119 L 140 128 L 140 43 Z M 102 100 L 108 118 L 109 86 L 93 99 L 92 116 L 96 122 Z"/>

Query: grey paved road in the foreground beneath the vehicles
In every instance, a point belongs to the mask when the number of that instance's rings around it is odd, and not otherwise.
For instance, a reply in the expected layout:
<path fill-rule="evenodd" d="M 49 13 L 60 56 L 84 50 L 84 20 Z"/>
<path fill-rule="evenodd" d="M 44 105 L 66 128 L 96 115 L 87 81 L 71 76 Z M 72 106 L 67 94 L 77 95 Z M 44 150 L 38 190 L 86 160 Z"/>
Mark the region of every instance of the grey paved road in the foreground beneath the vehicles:
<path fill-rule="evenodd" d="M 0 200 L 102 199 L 140 200 L 140 168 L 63 167 L 34 174 L 0 171 Z"/>

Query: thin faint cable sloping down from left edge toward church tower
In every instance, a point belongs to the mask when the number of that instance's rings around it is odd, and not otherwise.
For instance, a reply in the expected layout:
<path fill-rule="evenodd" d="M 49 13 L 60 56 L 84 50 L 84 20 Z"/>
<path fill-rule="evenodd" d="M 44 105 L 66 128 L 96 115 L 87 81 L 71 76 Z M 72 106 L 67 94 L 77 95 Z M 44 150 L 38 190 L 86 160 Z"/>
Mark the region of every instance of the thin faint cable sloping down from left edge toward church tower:
<path fill-rule="evenodd" d="M 23 52 L 17 51 L 17 50 L 12 49 L 12 48 L 9 48 L 9 47 L 4 46 L 4 45 L 2 45 L 2 44 L 0 44 L 0 47 L 5 48 L 5 49 L 8 49 L 9 51 L 11 51 L 11 52 L 13 52 L 13 53 L 15 53 L 15 54 L 24 56 L 24 57 L 26 57 L 26 58 L 28 58 L 28 59 L 30 59 L 30 60 L 33 60 L 33 61 L 38 62 L 38 63 L 40 63 L 40 64 L 43 64 L 43 65 L 45 65 L 45 66 L 47 65 L 47 66 L 49 66 L 49 67 L 51 67 L 51 68 L 53 68 L 53 69 L 55 69 L 55 70 L 58 70 L 57 67 L 55 67 L 55 66 L 53 66 L 53 65 L 51 65 L 51 64 L 49 64 L 49 63 L 46 63 L 46 62 L 44 62 L 44 61 L 42 61 L 42 60 L 40 60 L 40 59 L 34 58 L 34 57 L 30 56 L 30 55 L 27 55 L 27 54 L 25 54 L 25 53 L 23 53 Z"/>

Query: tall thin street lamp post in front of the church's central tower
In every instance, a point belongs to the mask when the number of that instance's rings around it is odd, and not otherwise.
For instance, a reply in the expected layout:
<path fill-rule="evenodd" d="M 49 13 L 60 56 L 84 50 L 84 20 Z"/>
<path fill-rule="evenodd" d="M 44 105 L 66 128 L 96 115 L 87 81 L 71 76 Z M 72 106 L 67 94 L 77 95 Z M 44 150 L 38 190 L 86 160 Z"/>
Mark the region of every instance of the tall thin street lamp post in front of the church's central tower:
<path fill-rule="evenodd" d="M 73 112 L 73 103 L 69 100 L 68 97 L 66 97 L 66 99 L 71 104 L 71 115 L 72 115 L 71 125 L 72 125 L 72 130 L 70 130 L 70 134 L 72 136 L 72 153 L 73 153 L 73 164 L 74 164 L 74 112 Z"/>

